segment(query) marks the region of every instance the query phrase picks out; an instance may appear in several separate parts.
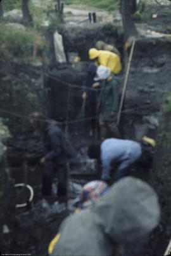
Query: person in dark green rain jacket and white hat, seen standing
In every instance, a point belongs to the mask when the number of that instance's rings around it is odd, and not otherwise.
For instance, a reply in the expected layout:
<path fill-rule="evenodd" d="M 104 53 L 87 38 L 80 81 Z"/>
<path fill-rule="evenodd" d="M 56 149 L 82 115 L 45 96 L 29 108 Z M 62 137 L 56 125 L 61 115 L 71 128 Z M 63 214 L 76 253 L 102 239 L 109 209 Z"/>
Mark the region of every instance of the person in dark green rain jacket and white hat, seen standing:
<path fill-rule="evenodd" d="M 99 127 L 101 140 L 108 137 L 120 138 L 117 127 L 117 114 L 119 108 L 118 80 L 110 69 L 99 65 L 94 81 L 100 81 L 101 91 L 98 99 Z"/>

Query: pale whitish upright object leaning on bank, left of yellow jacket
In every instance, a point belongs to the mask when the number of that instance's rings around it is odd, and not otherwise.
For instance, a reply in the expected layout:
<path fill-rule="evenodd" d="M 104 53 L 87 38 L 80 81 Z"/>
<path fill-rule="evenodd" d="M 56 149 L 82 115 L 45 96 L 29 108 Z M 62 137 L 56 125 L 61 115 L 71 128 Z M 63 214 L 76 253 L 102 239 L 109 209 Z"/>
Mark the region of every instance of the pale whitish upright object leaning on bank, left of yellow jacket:
<path fill-rule="evenodd" d="M 54 38 L 54 51 L 57 63 L 66 63 L 66 56 L 63 48 L 62 36 L 56 31 L 53 35 Z"/>

